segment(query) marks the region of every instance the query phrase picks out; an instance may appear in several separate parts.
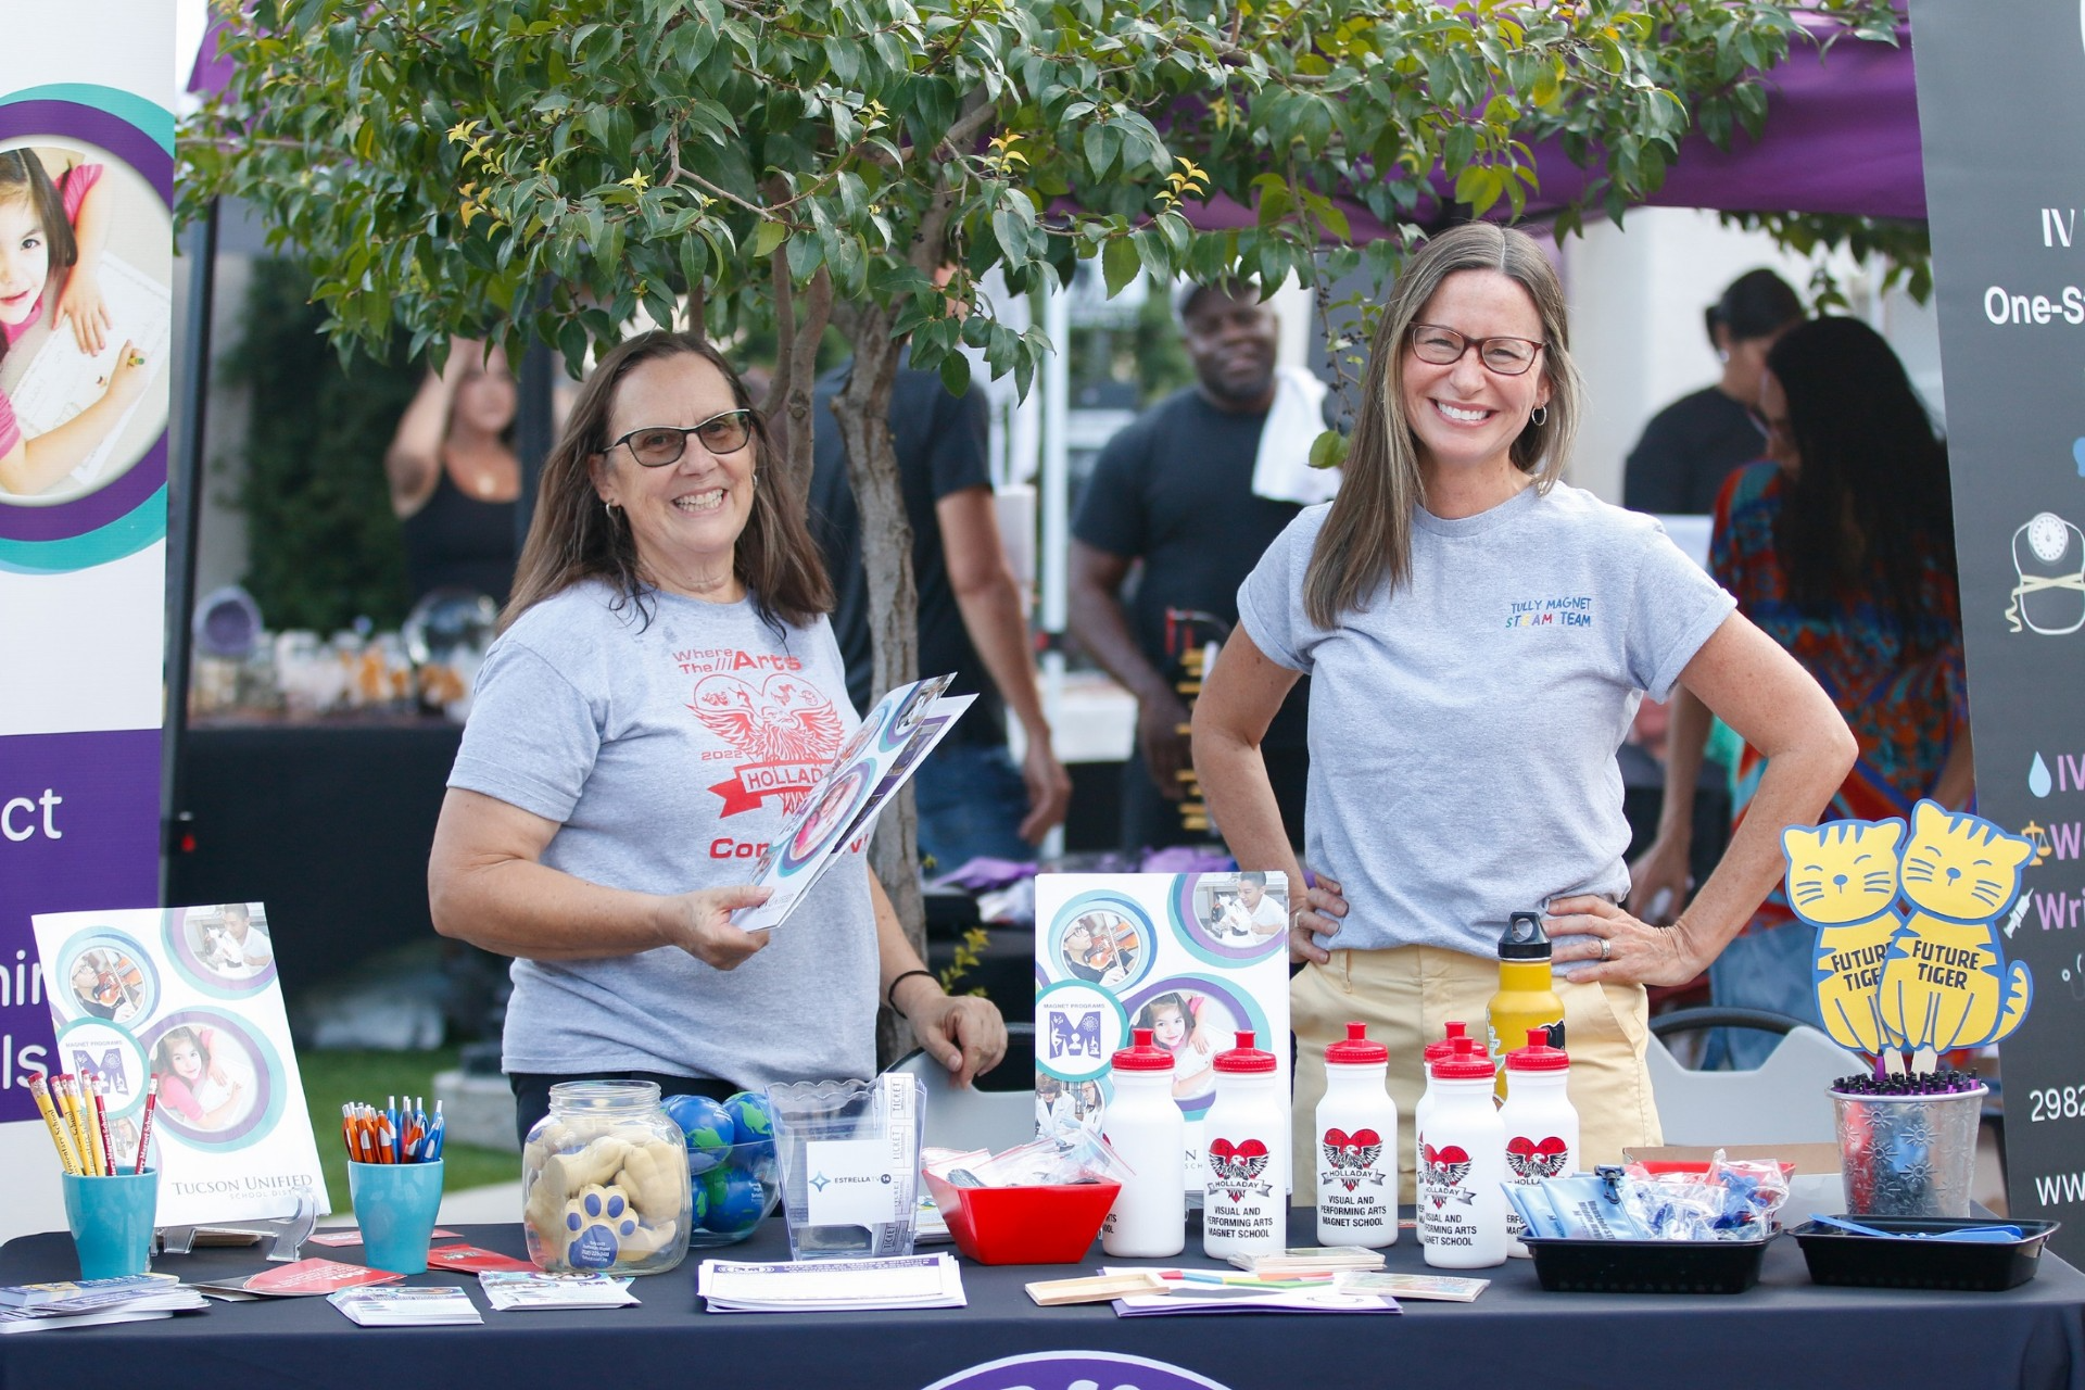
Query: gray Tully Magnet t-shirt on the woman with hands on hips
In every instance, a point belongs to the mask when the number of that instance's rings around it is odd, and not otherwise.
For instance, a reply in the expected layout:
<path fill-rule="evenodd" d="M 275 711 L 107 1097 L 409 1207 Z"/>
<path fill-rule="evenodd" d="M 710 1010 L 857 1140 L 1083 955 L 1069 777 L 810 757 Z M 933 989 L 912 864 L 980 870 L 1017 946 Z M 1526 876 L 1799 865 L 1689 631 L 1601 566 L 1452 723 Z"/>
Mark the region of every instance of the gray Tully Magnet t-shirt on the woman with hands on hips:
<path fill-rule="evenodd" d="M 1303 573 L 1330 504 L 1238 588 L 1268 659 L 1311 677 L 1307 863 L 1343 948 L 1491 954 L 1507 913 L 1628 892 L 1622 744 L 1735 602 L 1649 517 L 1576 488 L 1414 517 L 1412 577 L 1326 631 Z"/>

